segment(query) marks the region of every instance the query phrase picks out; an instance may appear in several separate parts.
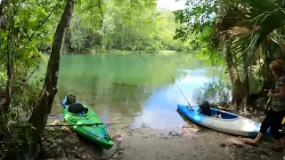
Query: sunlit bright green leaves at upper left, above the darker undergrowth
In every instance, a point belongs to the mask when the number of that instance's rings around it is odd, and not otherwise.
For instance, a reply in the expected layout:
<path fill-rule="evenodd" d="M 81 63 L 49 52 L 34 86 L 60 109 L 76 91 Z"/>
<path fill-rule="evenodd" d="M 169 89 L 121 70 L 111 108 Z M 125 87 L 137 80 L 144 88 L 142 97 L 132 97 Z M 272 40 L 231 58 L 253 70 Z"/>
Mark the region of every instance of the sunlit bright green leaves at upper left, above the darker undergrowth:
<path fill-rule="evenodd" d="M 12 1 L 10 7 L 5 8 L 4 12 L 11 15 L 6 20 L 6 27 L 10 29 L 11 21 L 13 21 L 14 32 L 9 33 L 0 29 L 0 55 L 3 57 L 7 54 L 9 42 L 7 37 L 14 36 L 12 72 L 15 84 L 25 81 L 28 71 L 34 69 L 42 58 L 40 51 L 44 46 L 52 43 L 54 22 L 57 21 L 55 17 L 61 13 L 63 4 L 64 2 L 61 1 L 41 3 L 36 0 Z M 6 60 L 5 57 L 1 58 L 1 64 L 5 64 Z M 6 79 L 5 65 L 0 66 L 0 72 L 3 73 L 1 78 Z"/>

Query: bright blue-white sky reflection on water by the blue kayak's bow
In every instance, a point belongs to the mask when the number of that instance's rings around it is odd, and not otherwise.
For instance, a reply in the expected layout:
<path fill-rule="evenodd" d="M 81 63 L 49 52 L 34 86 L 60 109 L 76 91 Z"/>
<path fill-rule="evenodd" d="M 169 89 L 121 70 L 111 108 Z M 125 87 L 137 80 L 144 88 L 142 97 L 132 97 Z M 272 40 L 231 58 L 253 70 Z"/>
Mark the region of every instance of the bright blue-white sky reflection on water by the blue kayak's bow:
<path fill-rule="evenodd" d="M 192 99 L 193 92 L 198 86 L 207 83 L 212 78 L 202 74 L 207 72 L 206 68 L 195 70 L 177 69 L 177 71 L 186 71 L 188 73 L 188 75 L 175 80 L 183 93 L 175 84 L 153 92 L 148 104 L 142 109 L 142 116 L 134 117 L 133 127 L 140 127 L 144 123 L 156 129 L 172 129 L 183 125 L 183 118 L 176 112 L 178 103 L 187 104 L 183 94 L 191 106 L 197 105 L 195 100 Z"/>

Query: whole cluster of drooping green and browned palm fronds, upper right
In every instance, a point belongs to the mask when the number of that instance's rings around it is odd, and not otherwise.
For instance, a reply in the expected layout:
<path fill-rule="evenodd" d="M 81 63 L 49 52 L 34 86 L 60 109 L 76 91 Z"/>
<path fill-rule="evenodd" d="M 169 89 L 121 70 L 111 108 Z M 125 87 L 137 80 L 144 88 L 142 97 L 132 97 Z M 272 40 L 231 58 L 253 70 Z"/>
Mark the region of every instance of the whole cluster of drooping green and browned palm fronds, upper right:
<path fill-rule="evenodd" d="M 246 57 L 243 67 L 248 68 L 259 45 L 268 39 L 285 47 L 285 37 L 272 33 L 284 26 L 285 12 L 273 0 L 240 0 L 240 4 L 243 9 L 230 9 L 216 24 L 216 38 L 220 46 L 231 39 L 232 53 L 239 54 L 238 59 Z"/>

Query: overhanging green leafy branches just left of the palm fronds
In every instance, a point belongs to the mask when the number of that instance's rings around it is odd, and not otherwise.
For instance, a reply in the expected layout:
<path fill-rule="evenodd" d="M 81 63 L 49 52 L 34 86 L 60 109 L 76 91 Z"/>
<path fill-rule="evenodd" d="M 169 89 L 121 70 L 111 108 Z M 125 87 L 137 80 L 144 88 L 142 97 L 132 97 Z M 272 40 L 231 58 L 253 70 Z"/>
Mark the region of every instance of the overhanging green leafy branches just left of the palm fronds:
<path fill-rule="evenodd" d="M 174 39 L 189 41 L 192 50 L 198 50 L 198 58 L 208 64 L 224 64 L 224 55 L 215 52 L 213 36 L 215 34 L 216 4 L 212 1 L 188 1 L 187 8 L 175 12 L 176 23 L 181 24 L 175 30 Z"/>

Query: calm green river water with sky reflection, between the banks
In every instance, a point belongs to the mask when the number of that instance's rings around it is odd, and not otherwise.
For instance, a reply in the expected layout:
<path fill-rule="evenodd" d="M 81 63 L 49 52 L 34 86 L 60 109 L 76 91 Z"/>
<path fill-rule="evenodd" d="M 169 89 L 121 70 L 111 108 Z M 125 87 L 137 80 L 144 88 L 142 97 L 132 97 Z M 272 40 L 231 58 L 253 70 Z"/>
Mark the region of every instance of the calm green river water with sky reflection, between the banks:
<path fill-rule="evenodd" d="M 45 73 L 47 61 L 37 75 Z M 224 69 L 207 68 L 194 53 L 63 55 L 59 75 L 61 99 L 73 93 L 94 108 L 102 122 L 128 121 L 132 127 L 177 128 L 183 118 L 176 112 L 187 100 L 196 105 L 195 91 L 213 79 L 228 81 Z M 62 116 L 56 96 L 52 116 Z"/>

